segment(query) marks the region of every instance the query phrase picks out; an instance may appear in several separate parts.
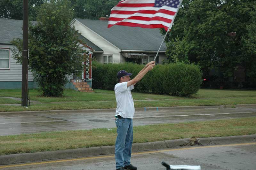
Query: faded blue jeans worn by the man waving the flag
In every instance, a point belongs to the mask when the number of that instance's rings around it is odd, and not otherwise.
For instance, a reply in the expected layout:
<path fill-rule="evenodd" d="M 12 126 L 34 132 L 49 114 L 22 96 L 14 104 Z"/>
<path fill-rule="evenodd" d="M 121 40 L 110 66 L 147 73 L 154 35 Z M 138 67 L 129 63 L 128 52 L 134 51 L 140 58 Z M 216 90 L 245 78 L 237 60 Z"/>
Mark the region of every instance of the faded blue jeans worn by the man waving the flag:
<path fill-rule="evenodd" d="M 116 118 L 117 137 L 115 147 L 116 169 L 131 164 L 133 127 L 132 119 Z"/>

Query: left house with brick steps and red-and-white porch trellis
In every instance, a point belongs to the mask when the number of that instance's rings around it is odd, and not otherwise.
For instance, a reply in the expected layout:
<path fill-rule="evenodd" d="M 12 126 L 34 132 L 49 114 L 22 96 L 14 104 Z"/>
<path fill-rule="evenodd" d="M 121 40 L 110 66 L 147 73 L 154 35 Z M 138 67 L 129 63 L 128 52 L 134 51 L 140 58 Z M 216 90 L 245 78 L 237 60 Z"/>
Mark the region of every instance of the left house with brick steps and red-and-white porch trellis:
<path fill-rule="evenodd" d="M 17 61 L 12 58 L 12 49 L 14 48 L 14 45 L 12 45 L 11 41 L 14 38 L 22 39 L 22 27 L 22 20 L 0 18 L 0 89 L 21 89 L 22 65 L 16 63 Z M 81 40 L 81 44 L 84 46 L 84 49 L 86 51 L 89 51 L 89 55 L 92 54 L 91 51 L 102 51 L 99 47 L 84 38 L 82 35 L 78 34 L 78 37 Z M 91 90 L 90 87 L 92 77 L 90 76 L 90 72 L 91 70 L 87 69 L 87 71 L 85 70 L 81 76 L 77 76 L 74 74 L 71 75 L 69 79 L 71 82 L 74 82 L 74 80 L 76 79 L 79 79 L 79 81 L 81 81 L 81 79 L 84 79 L 85 87 L 79 88 L 86 88 L 88 90 Z M 86 81 L 86 84 L 88 84 L 89 87 L 88 85 L 85 85 Z M 37 88 L 36 81 L 34 81 L 34 77 L 30 71 L 28 71 L 28 88 Z M 66 88 L 76 89 L 76 87 L 72 83 L 68 83 Z"/>

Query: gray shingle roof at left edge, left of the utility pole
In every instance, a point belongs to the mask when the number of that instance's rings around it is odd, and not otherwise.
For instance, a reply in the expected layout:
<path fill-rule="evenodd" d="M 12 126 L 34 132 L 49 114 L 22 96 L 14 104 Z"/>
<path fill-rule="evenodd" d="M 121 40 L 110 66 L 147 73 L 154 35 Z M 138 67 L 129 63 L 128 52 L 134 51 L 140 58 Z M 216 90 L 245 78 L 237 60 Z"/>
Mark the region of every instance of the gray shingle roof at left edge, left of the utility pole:
<path fill-rule="evenodd" d="M 13 38 L 22 38 L 22 20 L 0 18 L 0 43 L 11 44 Z"/>

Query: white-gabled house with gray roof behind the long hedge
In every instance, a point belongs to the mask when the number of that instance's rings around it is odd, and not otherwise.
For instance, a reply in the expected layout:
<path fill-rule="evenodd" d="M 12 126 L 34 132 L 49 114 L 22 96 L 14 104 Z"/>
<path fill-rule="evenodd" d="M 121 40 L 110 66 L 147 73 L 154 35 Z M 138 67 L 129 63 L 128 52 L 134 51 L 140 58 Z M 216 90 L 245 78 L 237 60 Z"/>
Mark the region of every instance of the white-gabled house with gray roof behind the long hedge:
<path fill-rule="evenodd" d="M 102 18 L 102 17 L 101 17 Z M 102 64 L 133 62 L 146 64 L 153 61 L 163 41 L 159 29 L 108 27 L 107 20 L 73 19 L 75 29 L 103 51 L 95 51 L 92 57 Z M 156 62 L 166 60 L 166 46 L 163 43 Z"/>

